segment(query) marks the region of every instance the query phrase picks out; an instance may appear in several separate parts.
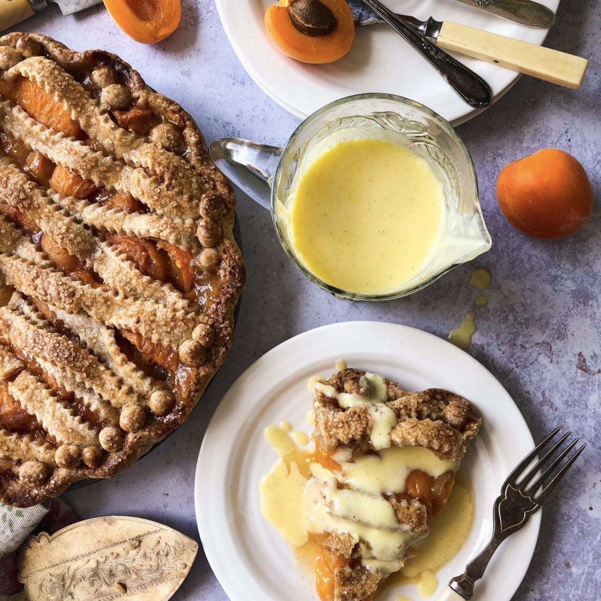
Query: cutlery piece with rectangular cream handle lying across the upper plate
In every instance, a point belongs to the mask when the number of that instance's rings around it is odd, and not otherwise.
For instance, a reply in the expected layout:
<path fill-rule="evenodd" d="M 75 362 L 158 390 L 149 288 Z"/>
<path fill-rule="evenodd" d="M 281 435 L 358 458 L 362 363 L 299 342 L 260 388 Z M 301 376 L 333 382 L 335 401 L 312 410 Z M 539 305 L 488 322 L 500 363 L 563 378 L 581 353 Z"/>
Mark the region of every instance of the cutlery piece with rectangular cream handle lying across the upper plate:
<path fill-rule="evenodd" d="M 420 21 L 407 14 L 394 14 L 378 0 L 347 0 L 347 4 L 353 11 L 356 27 L 378 23 L 391 25 L 394 20 L 397 25 L 404 23 L 406 28 L 419 32 L 426 40 L 425 43 L 430 44 L 423 49 L 417 48 L 422 53 L 427 50 L 432 55 L 434 52 L 442 52 L 441 48 L 444 48 L 574 90 L 582 84 L 588 67 L 587 59 L 581 56 L 493 34 L 484 29 L 450 21 L 436 21 L 432 17 Z M 380 9 L 376 8 L 378 5 Z M 382 8 L 386 14 L 382 13 Z M 393 26 L 393 29 L 401 34 L 397 27 Z"/>

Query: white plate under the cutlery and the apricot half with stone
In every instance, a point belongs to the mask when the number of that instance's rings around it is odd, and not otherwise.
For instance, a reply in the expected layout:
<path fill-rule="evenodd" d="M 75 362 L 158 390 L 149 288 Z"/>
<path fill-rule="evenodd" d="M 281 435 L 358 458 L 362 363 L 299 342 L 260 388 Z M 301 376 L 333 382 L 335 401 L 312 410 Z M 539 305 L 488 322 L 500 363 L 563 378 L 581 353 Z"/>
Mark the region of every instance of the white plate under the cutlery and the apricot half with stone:
<path fill-rule="evenodd" d="M 538 1 L 557 11 L 559 0 Z M 308 117 L 329 102 L 365 92 L 418 100 L 455 125 L 480 112 L 463 102 L 409 44 L 383 25 L 358 29 L 353 47 L 340 61 L 307 65 L 284 56 L 267 37 L 263 17 L 275 0 L 216 2 L 240 63 L 263 91 L 297 117 Z M 549 31 L 499 19 L 457 0 L 387 0 L 386 5 L 419 19 L 433 16 L 534 44 L 542 44 Z M 513 71 L 457 56 L 489 82 L 495 99 L 517 81 L 518 74 Z"/>

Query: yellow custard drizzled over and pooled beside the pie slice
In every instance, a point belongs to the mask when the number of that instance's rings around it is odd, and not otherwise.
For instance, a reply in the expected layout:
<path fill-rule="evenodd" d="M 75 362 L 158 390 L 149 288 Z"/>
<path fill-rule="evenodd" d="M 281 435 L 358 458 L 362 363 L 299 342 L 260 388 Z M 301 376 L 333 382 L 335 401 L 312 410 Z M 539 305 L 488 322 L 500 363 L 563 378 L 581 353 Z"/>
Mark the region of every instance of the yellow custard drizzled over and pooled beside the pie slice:
<path fill-rule="evenodd" d="M 396 584 L 408 579 L 416 582 L 421 593 L 436 588 L 433 572 L 462 546 L 468 537 L 473 519 L 473 501 L 467 489 L 457 484 L 448 506 L 432 522 L 436 535 L 418 559 L 410 558 L 421 536 L 407 531 L 398 523 L 392 505 L 382 493 L 402 493 L 407 476 L 414 469 L 436 478 L 445 472 L 455 472 L 459 462 L 439 459 L 432 451 L 421 447 L 391 447 L 390 433 L 397 423 L 394 412 L 384 404 L 386 390 L 382 376 L 367 374 L 371 397 L 338 393 L 334 388 L 312 380 L 310 388 L 337 398 L 340 406 L 367 404 L 373 419 L 371 441 L 376 453 L 364 454 L 352 460 L 349 450 L 332 456 L 340 470 L 330 471 L 317 462 L 313 450 L 301 448 L 302 441 L 290 424 L 270 426 L 265 438 L 279 459 L 260 483 L 261 511 L 293 548 L 310 549 L 314 543 L 310 534 L 348 532 L 356 540 L 366 542 L 363 563 L 384 573 L 397 572 Z M 283 427 L 282 427 L 283 426 Z M 338 484 L 344 485 L 339 488 Z M 457 500 L 457 502 L 454 502 Z M 304 561 L 304 563 L 310 563 Z M 405 567 L 403 567 L 405 566 Z M 391 583 L 392 584 L 392 583 Z"/>

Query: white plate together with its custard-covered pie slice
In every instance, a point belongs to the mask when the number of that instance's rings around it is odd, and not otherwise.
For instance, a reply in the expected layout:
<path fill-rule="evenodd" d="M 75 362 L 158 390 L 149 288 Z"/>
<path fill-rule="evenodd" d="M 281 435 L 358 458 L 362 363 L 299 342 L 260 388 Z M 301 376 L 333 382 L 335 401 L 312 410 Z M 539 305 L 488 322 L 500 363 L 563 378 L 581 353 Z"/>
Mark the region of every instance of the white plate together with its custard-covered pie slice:
<path fill-rule="evenodd" d="M 219 404 L 195 480 L 203 548 L 232 601 L 435 598 L 488 541 L 501 484 L 533 446 L 501 384 L 447 341 L 323 326 Z M 511 599 L 539 528 L 540 512 L 504 543 L 482 599 Z"/>

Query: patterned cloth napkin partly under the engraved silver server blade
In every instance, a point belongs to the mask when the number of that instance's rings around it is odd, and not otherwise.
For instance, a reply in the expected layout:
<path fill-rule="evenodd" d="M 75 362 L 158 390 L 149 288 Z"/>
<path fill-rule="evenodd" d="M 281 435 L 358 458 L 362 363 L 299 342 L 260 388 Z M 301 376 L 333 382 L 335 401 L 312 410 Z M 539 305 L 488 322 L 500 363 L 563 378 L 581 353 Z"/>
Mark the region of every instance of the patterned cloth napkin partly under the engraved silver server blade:
<path fill-rule="evenodd" d="M 20 509 L 0 503 L 0 601 L 23 590 L 17 582 L 15 561 L 17 549 L 29 534 L 49 532 L 78 522 L 75 511 L 62 499 L 51 499 L 44 504 Z"/>

